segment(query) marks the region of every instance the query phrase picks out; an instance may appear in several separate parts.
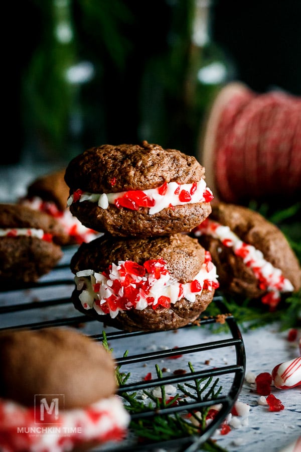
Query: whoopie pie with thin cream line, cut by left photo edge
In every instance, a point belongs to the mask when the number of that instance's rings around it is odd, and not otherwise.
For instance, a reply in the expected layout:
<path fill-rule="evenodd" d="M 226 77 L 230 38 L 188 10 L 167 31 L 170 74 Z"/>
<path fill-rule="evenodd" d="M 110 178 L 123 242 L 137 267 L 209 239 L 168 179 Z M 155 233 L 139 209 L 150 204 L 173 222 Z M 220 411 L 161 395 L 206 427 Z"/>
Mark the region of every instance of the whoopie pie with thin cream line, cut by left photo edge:
<path fill-rule="evenodd" d="M 32 283 L 63 256 L 65 232 L 56 218 L 19 204 L 0 204 L 0 282 Z"/>

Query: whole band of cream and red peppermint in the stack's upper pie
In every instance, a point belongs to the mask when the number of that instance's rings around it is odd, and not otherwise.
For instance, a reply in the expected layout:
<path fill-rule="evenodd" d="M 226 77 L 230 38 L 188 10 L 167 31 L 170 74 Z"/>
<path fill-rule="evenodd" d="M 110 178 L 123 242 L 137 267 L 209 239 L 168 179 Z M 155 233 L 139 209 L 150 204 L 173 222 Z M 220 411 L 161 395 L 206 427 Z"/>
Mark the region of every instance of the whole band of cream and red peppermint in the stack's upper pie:
<path fill-rule="evenodd" d="M 201 179 L 192 184 L 181 185 L 178 182 L 164 182 L 158 188 L 128 190 L 119 193 L 89 193 L 77 189 L 69 196 L 67 205 L 70 206 L 73 202 L 78 201 L 90 201 L 97 202 L 98 206 L 103 209 L 107 209 L 109 204 L 130 210 L 148 207 L 149 214 L 153 215 L 168 207 L 210 202 L 212 199 L 212 191 L 206 186 L 205 180 Z"/>

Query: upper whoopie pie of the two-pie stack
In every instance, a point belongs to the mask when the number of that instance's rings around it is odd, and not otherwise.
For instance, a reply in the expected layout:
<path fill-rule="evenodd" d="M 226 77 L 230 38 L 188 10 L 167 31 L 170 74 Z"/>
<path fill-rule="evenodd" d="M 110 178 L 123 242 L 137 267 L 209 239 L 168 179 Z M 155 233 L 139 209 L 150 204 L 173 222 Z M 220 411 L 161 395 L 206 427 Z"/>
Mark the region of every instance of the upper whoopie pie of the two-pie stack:
<path fill-rule="evenodd" d="M 68 205 L 86 227 L 113 236 L 190 232 L 211 212 L 204 173 L 195 157 L 157 144 L 102 145 L 67 166 Z"/>

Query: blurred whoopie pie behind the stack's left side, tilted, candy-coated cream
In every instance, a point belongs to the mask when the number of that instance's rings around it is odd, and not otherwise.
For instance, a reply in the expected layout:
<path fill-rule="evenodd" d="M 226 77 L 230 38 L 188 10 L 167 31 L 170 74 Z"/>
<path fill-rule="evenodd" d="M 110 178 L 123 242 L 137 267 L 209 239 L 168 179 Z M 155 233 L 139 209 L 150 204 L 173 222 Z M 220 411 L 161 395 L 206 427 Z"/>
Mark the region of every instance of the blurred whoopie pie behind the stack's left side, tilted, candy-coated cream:
<path fill-rule="evenodd" d="M 65 231 L 60 245 L 90 242 L 98 233 L 86 228 L 67 208 L 69 188 L 64 176 L 65 168 L 38 177 L 28 186 L 27 194 L 19 202 L 57 219 Z"/>

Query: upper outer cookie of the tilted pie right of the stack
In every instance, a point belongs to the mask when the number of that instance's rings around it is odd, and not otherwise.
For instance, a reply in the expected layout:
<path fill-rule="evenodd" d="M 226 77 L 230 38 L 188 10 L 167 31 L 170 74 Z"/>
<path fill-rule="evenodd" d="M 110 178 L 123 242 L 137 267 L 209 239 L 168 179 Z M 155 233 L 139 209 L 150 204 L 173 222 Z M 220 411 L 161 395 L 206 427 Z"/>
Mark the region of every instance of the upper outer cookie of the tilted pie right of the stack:
<path fill-rule="evenodd" d="M 276 225 L 247 207 L 223 202 L 212 205 L 210 218 L 228 226 L 243 242 L 260 250 L 265 260 L 279 268 L 295 289 L 300 287 L 298 260 Z"/>

